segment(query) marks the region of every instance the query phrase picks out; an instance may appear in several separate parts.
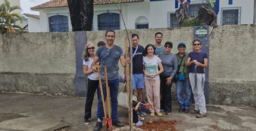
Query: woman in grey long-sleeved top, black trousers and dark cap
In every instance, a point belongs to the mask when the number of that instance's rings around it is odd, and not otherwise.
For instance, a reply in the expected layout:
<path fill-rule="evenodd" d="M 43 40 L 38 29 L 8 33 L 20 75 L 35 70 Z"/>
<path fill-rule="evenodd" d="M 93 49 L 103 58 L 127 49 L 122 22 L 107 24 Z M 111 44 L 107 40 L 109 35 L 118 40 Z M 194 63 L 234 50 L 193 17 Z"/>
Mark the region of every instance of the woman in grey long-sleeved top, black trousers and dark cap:
<path fill-rule="evenodd" d="M 164 53 L 159 55 L 164 67 L 164 72 L 160 74 L 160 92 L 161 92 L 161 109 L 165 114 L 171 113 L 171 85 L 173 85 L 173 77 L 178 70 L 178 63 L 176 56 L 171 53 L 173 43 L 167 41 L 164 44 Z"/>

